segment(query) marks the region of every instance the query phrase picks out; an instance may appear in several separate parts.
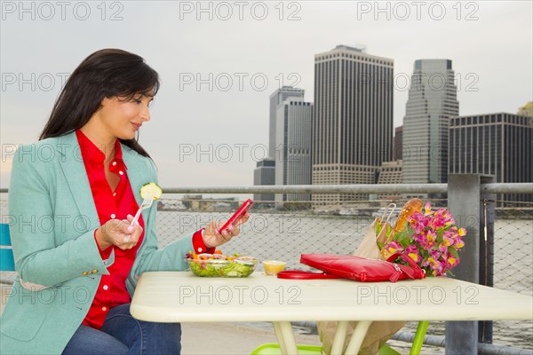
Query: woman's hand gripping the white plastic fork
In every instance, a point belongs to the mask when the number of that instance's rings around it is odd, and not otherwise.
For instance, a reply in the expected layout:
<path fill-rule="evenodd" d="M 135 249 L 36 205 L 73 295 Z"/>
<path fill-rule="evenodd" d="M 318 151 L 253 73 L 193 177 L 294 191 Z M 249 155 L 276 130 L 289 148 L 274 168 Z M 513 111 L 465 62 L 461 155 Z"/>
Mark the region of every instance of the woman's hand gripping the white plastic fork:
<path fill-rule="evenodd" d="M 137 245 L 142 227 L 137 222 L 130 225 L 133 217 L 128 215 L 128 219 L 109 219 L 105 225 L 100 225 L 96 230 L 96 241 L 101 250 L 112 245 L 123 250 L 131 249 Z"/>

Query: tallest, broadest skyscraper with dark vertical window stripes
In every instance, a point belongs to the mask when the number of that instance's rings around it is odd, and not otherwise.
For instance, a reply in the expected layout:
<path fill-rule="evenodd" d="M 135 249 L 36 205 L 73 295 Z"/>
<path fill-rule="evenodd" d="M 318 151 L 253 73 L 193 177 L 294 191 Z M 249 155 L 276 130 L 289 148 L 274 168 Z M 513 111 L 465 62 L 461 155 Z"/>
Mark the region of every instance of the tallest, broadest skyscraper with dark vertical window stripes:
<path fill-rule="evenodd" d="M 393 156 L 394 60 L 338 45 L 314 56 L 313 184 L 375 184 Z M 368 194 L 314 194 L 315 205 Z"/>

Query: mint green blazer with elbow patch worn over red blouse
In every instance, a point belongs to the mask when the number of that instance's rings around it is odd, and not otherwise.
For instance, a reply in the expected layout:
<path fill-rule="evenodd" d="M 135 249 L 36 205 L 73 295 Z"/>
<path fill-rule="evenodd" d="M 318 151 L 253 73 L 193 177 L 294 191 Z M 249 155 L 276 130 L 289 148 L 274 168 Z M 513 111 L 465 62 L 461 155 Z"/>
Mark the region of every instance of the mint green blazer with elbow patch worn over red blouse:
<path fill-rule="evenodd" d="M 140 205 L 140 186 L 157 182 L 155 165 L 127 146 L 122 149 Z M 60 354 L 115 257 L 104 263 L 94 241 L 99 218 L 76 133 L 20 146 L 13 156 L 8 205 L 17 277 L 0 318 L 0 353 Z M 193 249 L 192 234 L 158 248 L 155 210 L 154 204 L 142 212 L 145 236 L 126 281 L 131 296 L 140 274 L 185 270 L 185 254 Z"/>

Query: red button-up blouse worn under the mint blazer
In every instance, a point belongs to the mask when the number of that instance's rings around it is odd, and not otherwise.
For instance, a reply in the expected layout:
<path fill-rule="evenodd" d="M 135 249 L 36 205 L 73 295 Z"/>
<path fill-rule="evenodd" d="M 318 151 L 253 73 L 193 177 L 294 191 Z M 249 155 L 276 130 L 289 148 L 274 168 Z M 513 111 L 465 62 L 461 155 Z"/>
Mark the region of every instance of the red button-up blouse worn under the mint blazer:
<path fill-rule="evenodd" d="M 120 177 L 120 182 L 115 191 L 111 191 L 104 170 L 105 154 L 81 130 L 76 130 L 76 137 L 81 148 L 100 225 L 106 224 L 109 219 L 127 219 L 128 215 L 135 215 L 139 205 L 131 191 L 130 180 L 126 174 L 128 168 L 123 162 L 119 140 L 115 140 L 115 158 L 109 162 L 109 170 Z M 139 224 L 144 230 L 142 215 L 139 217 Z M 98 291 L 83 322 L 85 326 L 99 329 L 104 324 L 107 312 L 111 308 L 131 302 L 130 294 L 126 288 L 126 278 L 131 271 L 144 234 L 143 231 L 134 248 L 122 250 L 111 246 L 105 250 L 100 250 L 100 256 L 103 260 L 106 260 L 111 255 L 111 251 L 115 250 L 115 262 L 107 267 L 108 275 L 101 275 Z M 215 248 L 207 248 L 203 243 L 202 230 L 193 235 L 192 243 L 197 253 L 213 253 L 215 250 Z"/>

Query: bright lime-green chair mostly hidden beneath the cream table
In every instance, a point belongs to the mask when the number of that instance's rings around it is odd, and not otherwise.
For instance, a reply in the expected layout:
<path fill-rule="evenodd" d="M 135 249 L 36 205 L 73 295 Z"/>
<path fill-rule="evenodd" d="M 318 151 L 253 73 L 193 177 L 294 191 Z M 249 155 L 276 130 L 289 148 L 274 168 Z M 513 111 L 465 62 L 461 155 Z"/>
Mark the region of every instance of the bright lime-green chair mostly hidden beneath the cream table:
<path fill-rule="evenodd" d="M 426 330 L 429 321 L 420 320 L 418 322 L 417 333 L 413 339 L 413 344 L 410 349 L 410 355 L 419 355 L 426 337 Z M 304 345 L 298 344 L 298 354 L 302 355 L 322 355 L 322 346 L 319 345 Z M 264 343 L 259 345 L 251 355 L 282 355 L 280 345 L 278 343 Z M 400 355 L 400 352 L 393 348 L 383 345 L 379 348 L 379 355 Z"/>

